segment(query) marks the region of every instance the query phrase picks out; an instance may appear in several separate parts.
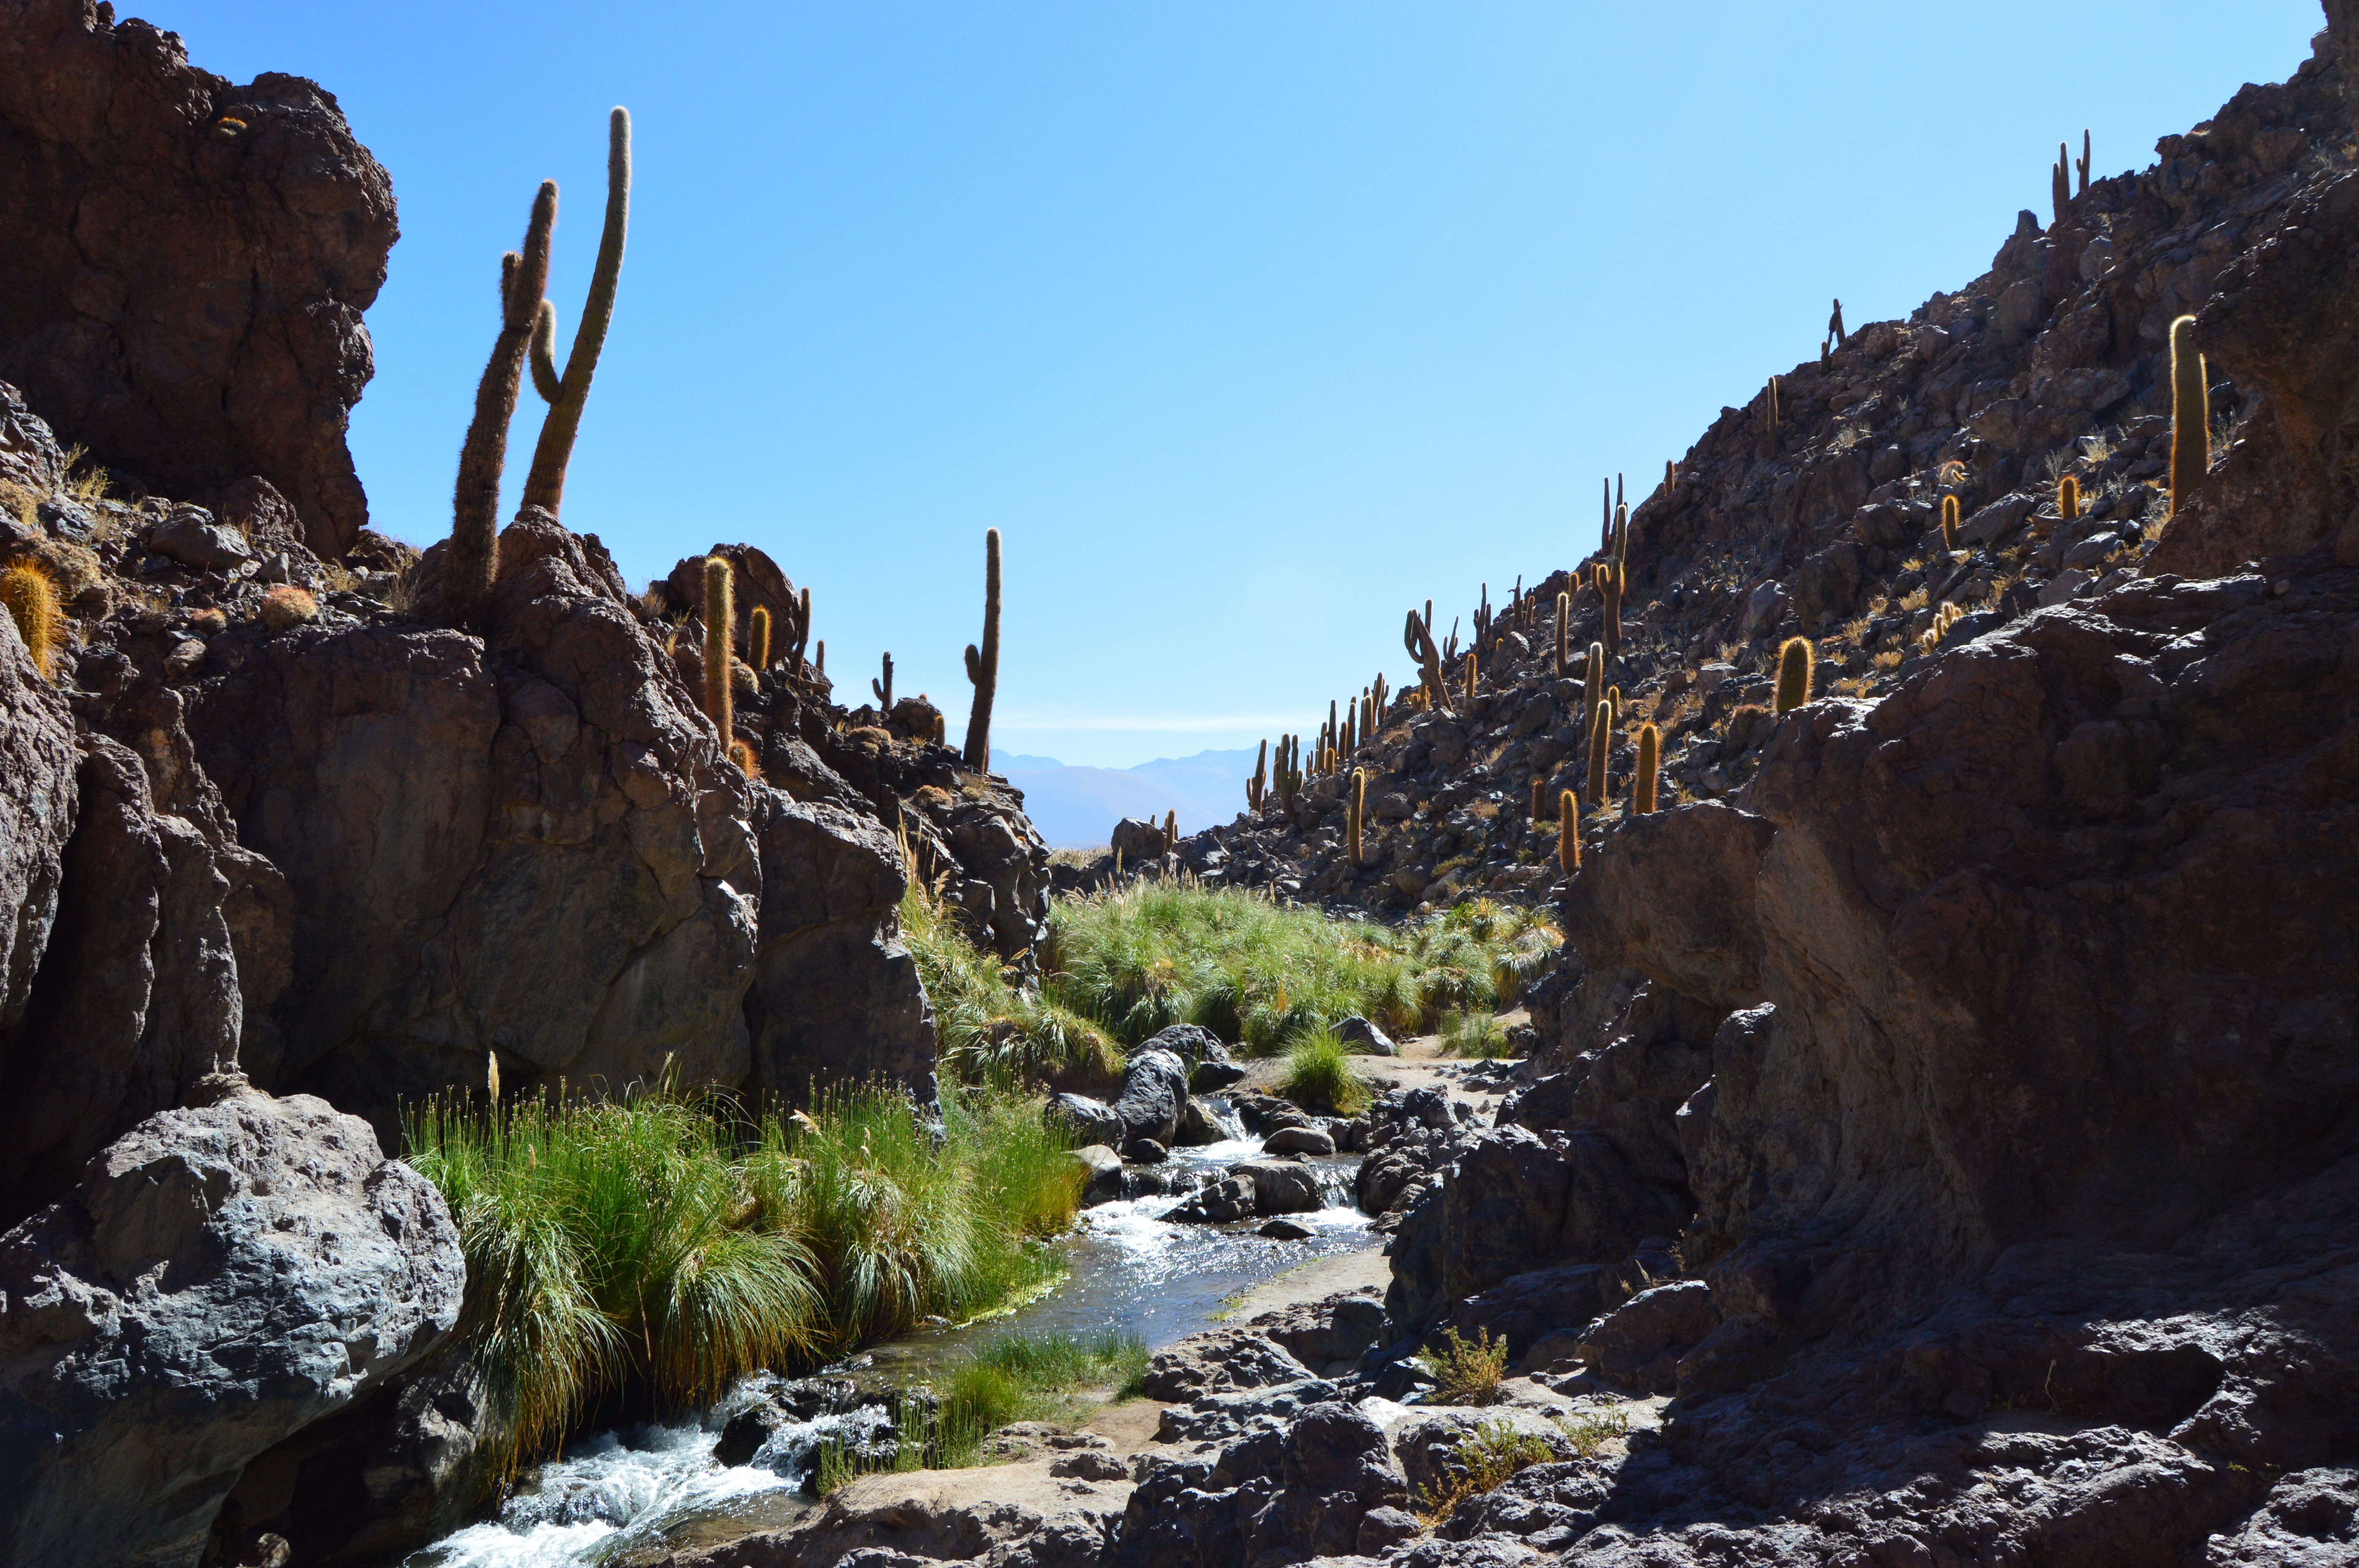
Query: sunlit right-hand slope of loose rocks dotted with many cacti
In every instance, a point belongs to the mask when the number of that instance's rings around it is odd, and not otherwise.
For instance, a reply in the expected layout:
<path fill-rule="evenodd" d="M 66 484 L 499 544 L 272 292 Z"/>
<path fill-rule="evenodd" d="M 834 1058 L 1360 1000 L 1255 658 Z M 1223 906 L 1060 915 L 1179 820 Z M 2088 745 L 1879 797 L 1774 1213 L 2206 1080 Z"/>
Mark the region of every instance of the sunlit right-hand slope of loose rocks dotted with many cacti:
<path fill-rule="evenodd" d="M 1585 839 L 1602 842 L 1628 809 L 1644 722 L 1661 733 L 1665 802 L 1724 799 L 1753 778 L 1779 733 L 1772 665 L 1790 637 L 1814 644 L 1821 696 L 1873 700 L 2041 608 L 2335 540 L 2354 502 L 2338 431 L 2359 233 L 2335 47 L 2163 137 L 2151 167 L 2083 179 L 2045 226 L 2024 212 L 1960 292 L 1857 325 L 1779 370 L 1774 391 L 1765 375 L 1724 408 L 1630 505 L 1618 639 L 1595 585 L 1602 554 L 1533 564 L 1519 597 L 1507 580 L 1524 578 L 1498 564 L 1503 604 L 1489 622 L 1470 606 L 1465 646 L 1451 608 L 1432 622 L 1446 707 L 1420 700 L 1411 670 L 1375 733 L 1354 726 L 1364 740 L 1335 771 L 1316 766 L 1305 729 L 1300 792 L 1272 785 L 1257 813 L 1194 835 L 1182 858 L 1215 879 L 1378 910 L 1474 891 L 1545 898 L 1559 795 L 1578 795 Z M 2173 516 L 2168 337 L 2182 314 L 2201 314 L 2215 436 L 2210 472 Z M 2059 516 L 2062 479 L 2078 490 L 2074 519 Z M 1944 500 L 1958 507 L 1956 547 L 1939 531 Z M 1375 634 L 1382 653 L 1392 632 Z M 1602 799 L 1583 684 L 1595 641 L 1616 644 L 1604 681 L 1621 700 Z M 1359 865 L 1354 771 L 1366 773 Z"/>

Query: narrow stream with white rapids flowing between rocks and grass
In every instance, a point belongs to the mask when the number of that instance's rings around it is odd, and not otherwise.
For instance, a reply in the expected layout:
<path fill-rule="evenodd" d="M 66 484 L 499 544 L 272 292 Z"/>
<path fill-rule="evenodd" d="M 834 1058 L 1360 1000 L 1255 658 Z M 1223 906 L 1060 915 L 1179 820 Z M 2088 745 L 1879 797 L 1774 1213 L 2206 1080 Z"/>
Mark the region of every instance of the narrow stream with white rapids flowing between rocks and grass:
<path fill-rule="evenodd" d="M 1262 1141 L 1236 1127 L 1227 1101 L 1215 1103 L 1234 1137 L 1175 1148 L 1165 1170 L 1217 1179 L 1220 1170 L 1262 1153 Z M 856 1370 L 863 1382 L 908 1386 L 1010 1330 L 1095 1337 L 1118 1327 L 1139 1335 L 1149 1349 L 1184 1339 L 1210 1327 L 1241 1290 L 1316 1257 L 1380 1245 L 1349 1198 L 1359 1155 L 1314 1165 L 1330 1207 L 1288 1217 L 1312 1231 L 1307 1240 L 1269 1240 L 1255 1233 L 1257 1221 L 1194 1226 L 1163 1219 L 1187 1191 L 1102 1203 L 1083 1210 L 1076 1228 L 1057 1243 L 1069 1271 L 1057 1290 L 998 1318 L 875 1344 L 828 1372 Z M 719 1464 L 722 1427 L 776 1382 L 769 1375 L 745 1379 L 701 1419 L 578 1438 L 540 1464 L 495 1518 L 413 1551 L 403 1568 L 627 1568 L 668 1549 L 786 1528 L 814 1507 L 804 1483 L 821 1443 L 856 1438 L 859 1424 L 878 1417 L 852 1410 L 790 1422 L 769 1436 L 753 1462 Z"/>

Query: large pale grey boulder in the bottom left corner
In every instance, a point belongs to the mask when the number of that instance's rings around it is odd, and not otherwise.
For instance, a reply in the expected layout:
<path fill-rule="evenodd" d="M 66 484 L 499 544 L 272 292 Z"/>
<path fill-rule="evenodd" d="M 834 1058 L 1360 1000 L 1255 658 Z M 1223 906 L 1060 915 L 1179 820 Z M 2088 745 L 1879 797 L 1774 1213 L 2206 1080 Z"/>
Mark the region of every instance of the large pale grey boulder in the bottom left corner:
<path fill-rule="evenodd" d="M 422 1358 L 441 1195 L 326 1103 L 229 1089 L 0 1236 L 0 1563 L 193 1568 L 241 1469 Z"/>

